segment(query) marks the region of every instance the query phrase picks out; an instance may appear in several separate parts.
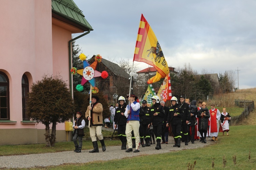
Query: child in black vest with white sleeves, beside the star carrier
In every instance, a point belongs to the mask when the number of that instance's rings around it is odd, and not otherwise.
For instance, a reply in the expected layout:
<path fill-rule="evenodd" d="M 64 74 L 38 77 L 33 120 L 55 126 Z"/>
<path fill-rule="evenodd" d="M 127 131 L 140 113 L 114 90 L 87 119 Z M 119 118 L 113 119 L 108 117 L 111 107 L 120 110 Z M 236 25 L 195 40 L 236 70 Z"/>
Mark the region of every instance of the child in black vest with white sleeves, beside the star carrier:
<path fill-rule="evenodd" d="M 84 128 L 85 128 L 85 121 L 81 112 L 76 112 L 76 119 L 74 120 L 73 124 L 73 142 L 75 144 L 74 152 L 79 153 L 82 150 L 83 145 L 83 136 L 84 136 Z M 77 144 L 77 138 L 79 141 L 79 145 Z"/>

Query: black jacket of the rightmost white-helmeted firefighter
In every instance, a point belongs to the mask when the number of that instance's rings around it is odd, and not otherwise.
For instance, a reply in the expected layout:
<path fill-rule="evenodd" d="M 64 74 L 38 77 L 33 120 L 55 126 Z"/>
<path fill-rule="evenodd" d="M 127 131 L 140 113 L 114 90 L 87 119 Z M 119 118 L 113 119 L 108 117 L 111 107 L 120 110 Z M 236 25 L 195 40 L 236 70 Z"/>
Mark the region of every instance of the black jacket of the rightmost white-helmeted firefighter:
<path fill-rule="evenodd" d="M 170 107 L 169 114 L 167 117 L 167 123 L 171 123 L 171 125 L 181 124 L 183 112 L 180 112 L 179 108 L 180 108 L 180 106 L 178 104 L 175 104 Z M 174 116 L 175 113 L 177 113 L 178 116 Z M 169 124 L 169 126 L 170 126 L 170 124 Z"/>

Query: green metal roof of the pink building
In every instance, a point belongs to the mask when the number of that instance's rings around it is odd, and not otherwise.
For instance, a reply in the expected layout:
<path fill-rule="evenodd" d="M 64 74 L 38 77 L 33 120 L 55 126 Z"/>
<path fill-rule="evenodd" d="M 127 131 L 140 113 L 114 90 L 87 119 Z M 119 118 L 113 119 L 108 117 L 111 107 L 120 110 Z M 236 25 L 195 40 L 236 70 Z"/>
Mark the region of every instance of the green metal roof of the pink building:
<path fill-rule="evenodd" d="M 73 0 L 52 0 L 52 16 L 84 31 L 93 31 Z"/>

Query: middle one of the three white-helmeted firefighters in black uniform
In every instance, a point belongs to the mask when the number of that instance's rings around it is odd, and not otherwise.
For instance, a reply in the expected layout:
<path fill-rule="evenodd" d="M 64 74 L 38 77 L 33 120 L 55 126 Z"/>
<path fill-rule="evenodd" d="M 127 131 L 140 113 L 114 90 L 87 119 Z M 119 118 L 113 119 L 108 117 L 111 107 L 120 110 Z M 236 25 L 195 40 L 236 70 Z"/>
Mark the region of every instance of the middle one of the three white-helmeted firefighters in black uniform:
<path fill-rule="evenodd" d="M 165 111 L 163 110 L 163 106 L 160 104 L 160 99 L 158 96 L 155 95 L 151 99 L 153 106 L 151 107 L 150 116 L 157 142 L 155 149 L 159 150 L 161 149 L 162 125 L 163 118 L 165 117 Z M 148 128 L 150 128 L 150 124 L 148 125 Z"/>

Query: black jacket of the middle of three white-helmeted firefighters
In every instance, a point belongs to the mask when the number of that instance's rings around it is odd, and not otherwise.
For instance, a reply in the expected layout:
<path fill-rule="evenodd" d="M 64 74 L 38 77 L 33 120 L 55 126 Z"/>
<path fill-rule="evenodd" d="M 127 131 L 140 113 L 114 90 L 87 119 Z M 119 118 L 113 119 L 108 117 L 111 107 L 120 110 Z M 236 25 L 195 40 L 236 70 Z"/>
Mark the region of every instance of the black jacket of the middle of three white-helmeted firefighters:
<path fill-rule="evenodd" d="M 162 125 L 163 124 L 163 118 L 165 117 L 165 111 L 163 111 L 163 106 L 160 105 L 160 103 L 155 103 L 151 109 L 150 109 L 150 116 L 152 119 L 152 125 Z M 154 116 L 154 113 L 158 113 L 157 116 Z"/>

